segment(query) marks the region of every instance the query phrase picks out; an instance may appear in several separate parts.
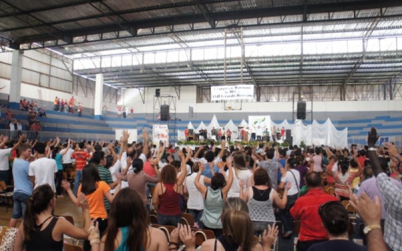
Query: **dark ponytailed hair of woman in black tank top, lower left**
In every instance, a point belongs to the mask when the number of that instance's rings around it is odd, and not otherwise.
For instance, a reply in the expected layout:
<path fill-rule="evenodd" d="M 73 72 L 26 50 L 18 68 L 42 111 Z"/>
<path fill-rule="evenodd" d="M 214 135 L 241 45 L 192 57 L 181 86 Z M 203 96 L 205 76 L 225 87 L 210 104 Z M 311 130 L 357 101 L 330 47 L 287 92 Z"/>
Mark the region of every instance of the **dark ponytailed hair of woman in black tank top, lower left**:
<path fill-rule="evenodd" d="M 37 187 L 27 201 L 27 209 L 24 216 L 24 239 L 30 240 L 33 232 L 36 230 L 36 221 L 38 214 L 46 210 L 50 201 L 54 198 L 54 191 L 48 185 Z"/>

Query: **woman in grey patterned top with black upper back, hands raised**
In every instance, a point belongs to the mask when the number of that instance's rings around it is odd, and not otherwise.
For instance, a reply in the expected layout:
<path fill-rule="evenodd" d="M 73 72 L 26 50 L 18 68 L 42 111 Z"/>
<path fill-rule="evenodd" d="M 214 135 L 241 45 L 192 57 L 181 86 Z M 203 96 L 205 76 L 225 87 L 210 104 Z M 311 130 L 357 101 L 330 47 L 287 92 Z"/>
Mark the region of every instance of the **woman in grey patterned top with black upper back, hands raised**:
<path fill-rule="evenodd" d="M 258 237 L 267 229 L 268 225 L 272 225 L 276 221 L 273 204 L 280 209 L 285 208 L 290 184 L 286 184 L 283 196 L 280 198 L 276 190 L 271 188 L 267 170 L 258 168 L 255 170 L 253 178 L 254 186 L 247 188 L 245 193 L 241 189 L 240 198 L 247 202 L 254 235 Z M 240 187 L 243 185 L 244 183 L 240 181 Z"/>

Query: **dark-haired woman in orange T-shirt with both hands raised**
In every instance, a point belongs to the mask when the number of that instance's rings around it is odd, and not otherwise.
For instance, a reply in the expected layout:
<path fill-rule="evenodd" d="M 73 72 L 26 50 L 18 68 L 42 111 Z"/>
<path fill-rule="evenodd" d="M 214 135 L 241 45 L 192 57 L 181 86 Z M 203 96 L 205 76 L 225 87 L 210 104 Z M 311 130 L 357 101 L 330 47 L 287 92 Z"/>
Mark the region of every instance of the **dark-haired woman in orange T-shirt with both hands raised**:
<path fill-rule="evenodd" d="M 79 206 L 78 199 L 71 191 L 70 183 L 63 180 L 62 186 L 67 191 L 74 204 Z M 89 204 L 90 217 L 97 221 L 101 236 L 108 226 L 108 213 L 105 209 L 104 197 L 112 203 L 113 198 L 119 193 L 120 187 L 121 179 L 118 177 L 118 185 L 115 194 L 112 196 L 110 193 L 110 186 L 106 182 L 100 180 L 98 169 L 95 164 L 88 164 L 82 170 L 82 184 L 78 187 L 78 194 L 82 192 L 85 195 Z M 90 247 L 89 241 L 84 241 L 84 250 L 89 251 Z"/>

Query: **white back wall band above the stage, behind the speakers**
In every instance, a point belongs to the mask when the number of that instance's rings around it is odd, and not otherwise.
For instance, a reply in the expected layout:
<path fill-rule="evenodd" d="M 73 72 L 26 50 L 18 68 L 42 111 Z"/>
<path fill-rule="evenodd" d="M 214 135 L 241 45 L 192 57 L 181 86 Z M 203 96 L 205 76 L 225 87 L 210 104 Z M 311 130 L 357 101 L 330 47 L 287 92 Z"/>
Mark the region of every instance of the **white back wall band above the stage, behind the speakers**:
<path fill-rule="evenodd" d="M 271 115 L 272 120 L 292 119 L 292 102 L 243 102 L 242 110 L 227 111 L 221 103 L 196 103 L 196 87 L 182 86 L 180 99 L 173 87 L 161 87 L 160 94 L 170 94 L 176 97 L 176 117 L 181 119 L 210 121 L 214 114 L 222 120 L 248 119 L 249 115 Z M 128 107 L 133 106 L 137 116 L 152 117 L 154 109 L 155 88 L 145 90 L 145 105 L 142 103 L 138 89 L 125 89 L 122 102 Z M 188 107 L 192 105 L 193 118 L 188 116 Z M 311 110 L 311 102 L 307 102 Z M 325 101 L 313 102 L 313 118 L 316 120 L 353 119 L 374 117 L 402 111 L 402 100 L 379 101 Z M 308 119 L 310 117 L 308 116 Z"/>

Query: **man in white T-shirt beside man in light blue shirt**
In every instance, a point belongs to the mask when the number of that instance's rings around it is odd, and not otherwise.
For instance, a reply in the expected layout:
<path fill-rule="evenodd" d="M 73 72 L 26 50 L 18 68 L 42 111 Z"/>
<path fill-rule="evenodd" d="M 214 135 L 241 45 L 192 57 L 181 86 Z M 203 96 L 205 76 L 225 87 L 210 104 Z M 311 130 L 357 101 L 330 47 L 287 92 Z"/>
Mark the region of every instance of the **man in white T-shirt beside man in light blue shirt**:
<path fill-rule="evenodd" d="M 36 143 L 34 149 L 37 159 L 29 164 L 28 175 L 34 185 L 34 189 L 38 186 L 49 184 L 53 191 L 56 192 L 54 180 L 56 178 L 57 165 L 55 160 L 45 157 L 45 148 L 45 144 Z"/>

